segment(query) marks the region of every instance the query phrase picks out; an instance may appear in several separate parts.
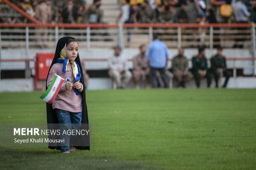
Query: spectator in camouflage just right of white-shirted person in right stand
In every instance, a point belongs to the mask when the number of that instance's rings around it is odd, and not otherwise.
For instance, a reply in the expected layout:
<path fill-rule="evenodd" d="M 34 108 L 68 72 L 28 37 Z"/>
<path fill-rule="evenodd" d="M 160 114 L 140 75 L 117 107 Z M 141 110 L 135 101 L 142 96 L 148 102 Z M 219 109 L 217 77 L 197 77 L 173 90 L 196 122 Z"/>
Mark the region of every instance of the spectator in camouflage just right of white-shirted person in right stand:
<path fill-rule="evenodd" d="M 137 15 L 139 16 L 137 20 Z M 137 7 L 135 13 L 133 14 L 134 23 L 155 23 L 156 22 L 156 12 L 151 9 L 148 1 L 143 1 L 141 7 Z"/>

